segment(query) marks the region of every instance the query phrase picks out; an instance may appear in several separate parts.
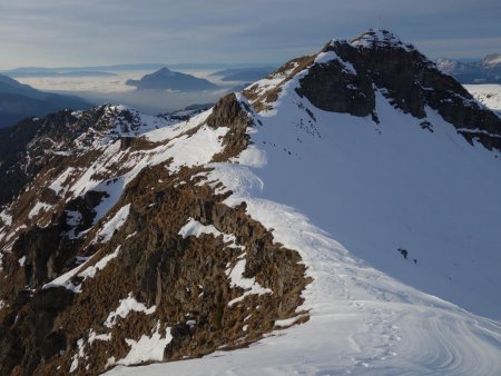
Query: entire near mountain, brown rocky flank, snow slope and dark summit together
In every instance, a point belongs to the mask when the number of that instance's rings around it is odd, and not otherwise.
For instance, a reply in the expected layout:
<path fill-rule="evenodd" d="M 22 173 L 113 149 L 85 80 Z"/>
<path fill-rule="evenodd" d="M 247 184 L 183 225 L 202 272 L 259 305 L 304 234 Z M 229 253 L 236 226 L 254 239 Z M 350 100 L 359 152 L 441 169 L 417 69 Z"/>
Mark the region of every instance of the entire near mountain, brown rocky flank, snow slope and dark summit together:
<path fill-rule="evenodd" d="M 501 119 L 391 32 L 62 118 L 1 212 L 2 374 L 501 372 Z"/>

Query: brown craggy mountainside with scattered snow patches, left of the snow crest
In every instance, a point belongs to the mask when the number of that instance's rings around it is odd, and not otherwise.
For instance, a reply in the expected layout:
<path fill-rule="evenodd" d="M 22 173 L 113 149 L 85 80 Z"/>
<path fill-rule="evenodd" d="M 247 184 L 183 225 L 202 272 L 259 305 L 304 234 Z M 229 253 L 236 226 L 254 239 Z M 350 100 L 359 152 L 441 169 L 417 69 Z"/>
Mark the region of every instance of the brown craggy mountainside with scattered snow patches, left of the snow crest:
<path fill-rule="evenodd" d="M 224 204 L 229 192 L 207 181 L 209 168 L 174 168 L 167 157 L 137 168 L 204 132 L 208 141 L 220 135 L 207 161 L 236 157 L 249 142 L 248 111 L 229 95 L 160 141 L 137 137 L 146 126 L 129 110 L 68 115 L 78 131 L 58 145 L 65 152 L 45 156 L 6 209 L 2 375 L 89 375 L 198 357 L 246 346 L 278 319 L 307 320 L 297 310 L 308 283 L 298 254 L 275 243 L 245 204 Z M 157 354 L 134 359 L 139 340 L 156 342 Z"/>

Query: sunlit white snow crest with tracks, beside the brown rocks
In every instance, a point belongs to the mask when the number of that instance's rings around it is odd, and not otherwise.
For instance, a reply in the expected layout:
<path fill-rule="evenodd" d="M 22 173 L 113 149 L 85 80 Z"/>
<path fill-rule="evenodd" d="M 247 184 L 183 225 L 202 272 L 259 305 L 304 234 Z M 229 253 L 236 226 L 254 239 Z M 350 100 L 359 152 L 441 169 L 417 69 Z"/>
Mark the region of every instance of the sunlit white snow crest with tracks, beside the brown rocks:
<path fill-rule="evenodd" d="M 253 215 L 274 227 L 282 241 L 303 250 L 315 278 L 305 293 L 304 308 L 311 309 L 311 320 L 236 353 L 140 369 L 118 367 L 109 375 L 312 375 L 347 370 L 355 375 L 489 375 L 499 369 L 499 324 L 405 287 L 352 258 L 292 208 L 263 199 L 247 202 Z"/>

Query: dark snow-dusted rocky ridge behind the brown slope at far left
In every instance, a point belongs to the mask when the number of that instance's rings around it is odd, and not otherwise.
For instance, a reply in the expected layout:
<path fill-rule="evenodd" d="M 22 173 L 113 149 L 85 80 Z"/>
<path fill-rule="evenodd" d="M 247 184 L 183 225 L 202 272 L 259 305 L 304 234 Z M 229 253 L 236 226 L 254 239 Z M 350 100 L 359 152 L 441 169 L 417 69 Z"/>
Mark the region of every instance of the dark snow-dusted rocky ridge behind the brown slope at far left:
<path fill-rule="evenodd" d="M 105 105 L 84 112 L 65 110 L 45 119 L 27 119 L 2 128 L 0 137 L 9 140 L 9 147 L 0 148 L 0 176 L 3 177 L 0 207 L 17 197 L 47 165 L 60 168 L 66 155 L 86 152 L 95 140 L 108 132 L 130 138 L 155 127 L 187 120 L 197 112 L 165 113 L 156 119 L 156 123 L 147 125 L 137 111 Z"/>

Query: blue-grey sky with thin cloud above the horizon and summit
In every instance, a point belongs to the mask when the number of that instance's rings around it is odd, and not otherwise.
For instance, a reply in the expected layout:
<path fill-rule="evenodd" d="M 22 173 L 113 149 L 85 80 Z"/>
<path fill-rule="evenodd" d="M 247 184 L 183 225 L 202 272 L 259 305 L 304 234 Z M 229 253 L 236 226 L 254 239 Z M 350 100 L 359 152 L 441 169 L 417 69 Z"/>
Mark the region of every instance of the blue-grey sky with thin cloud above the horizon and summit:
<path fill-rule="evenodd" d="M 500 0 L 0 0 L 0 69 L 283 62 L 380 23 L 430 58 L 501 52 Z"/>

